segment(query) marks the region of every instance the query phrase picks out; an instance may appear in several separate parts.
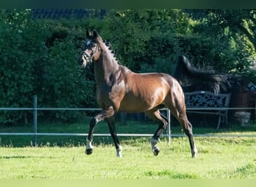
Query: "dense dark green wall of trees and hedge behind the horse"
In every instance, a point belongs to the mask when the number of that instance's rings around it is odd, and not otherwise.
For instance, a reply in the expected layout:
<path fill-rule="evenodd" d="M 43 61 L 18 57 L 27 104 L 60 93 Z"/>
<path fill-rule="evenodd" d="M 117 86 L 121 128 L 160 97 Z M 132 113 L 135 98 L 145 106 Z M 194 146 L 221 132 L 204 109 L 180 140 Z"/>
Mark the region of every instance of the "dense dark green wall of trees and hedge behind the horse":
<path fill-rule="evenodd" d="M 135 72 L 172 74 L 177 56 L 186 55 L 196 67 L 256 79 L 255 71 L 249 70 L 255 44 L 248 34 L 220 21 L 238 16 L 247 20 L 254 11 L 245 19 L 244 12 L 227 16 L 213 10 L 105 10 L 100 16 L 93 12 L 85 19 L 34 19 L 31 10 L 1 10 L 1 107 L 32 107 L 33 95 L 38 107 L 97 107 L 93 67 L 82 69 L 77 62 L 87 28 L 112 43 L 121 64 Z M 254 33 L 255 22 L 243 25 Z M 31 119 L 31 111 L 0 113 L 0 123 Z M 40 115 L 66 121 L 79 117 L 74 111 Z"/>

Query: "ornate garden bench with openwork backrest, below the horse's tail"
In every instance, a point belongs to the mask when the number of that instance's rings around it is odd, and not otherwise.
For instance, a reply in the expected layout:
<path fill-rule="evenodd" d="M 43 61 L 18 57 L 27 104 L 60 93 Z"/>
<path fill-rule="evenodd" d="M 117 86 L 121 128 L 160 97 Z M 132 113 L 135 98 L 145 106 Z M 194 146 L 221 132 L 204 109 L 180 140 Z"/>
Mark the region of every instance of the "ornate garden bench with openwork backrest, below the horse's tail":
<path fill-rule="evenodd" d="M 219 116 L 217 130 L 220 123 L 228 122 L 228 105 L 231 93 L 215 94 L 210 91 L 193 91 L 185 93 L 186 112 L 194 114 L 215 114 Z"/>

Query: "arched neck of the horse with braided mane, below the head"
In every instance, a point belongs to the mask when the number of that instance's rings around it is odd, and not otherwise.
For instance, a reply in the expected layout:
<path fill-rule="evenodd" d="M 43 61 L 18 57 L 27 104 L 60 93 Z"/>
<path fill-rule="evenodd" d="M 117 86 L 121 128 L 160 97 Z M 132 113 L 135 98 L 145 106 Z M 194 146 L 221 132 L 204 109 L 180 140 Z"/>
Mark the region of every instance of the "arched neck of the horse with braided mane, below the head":
<path fill-rule="evenodd" d="M 94 62 L 94 76 L 97 85 L 103 82 L 109 84 L 112 81 L 113 75 L 119 70 L 118 62 L 115 60 L 109 49 L 102 47 L 100 58 Z"/>

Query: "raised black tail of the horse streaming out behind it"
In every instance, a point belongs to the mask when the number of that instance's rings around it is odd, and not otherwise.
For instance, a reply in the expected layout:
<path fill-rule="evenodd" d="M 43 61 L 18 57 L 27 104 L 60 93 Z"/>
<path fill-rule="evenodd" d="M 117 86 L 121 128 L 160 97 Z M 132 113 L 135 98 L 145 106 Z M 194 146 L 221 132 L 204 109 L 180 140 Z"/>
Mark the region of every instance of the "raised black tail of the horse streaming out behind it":
<path fill-rule="evenodd" d="M 237 82 L 236 79 L 238 79 L 238 76 L 222 75 L 209 73 L 207 70 L 198 70 L 190 64 L 188 58 L 180 55 L 174 70 L 174 78 L 176 78 L 182 86 L 189 85 L 193 80 L 196 82 L 204 82 L 213 88 L 214 93 L 219 93 L 220 88 L 225 91 L 227 88 L 231 88 L 231 82 Z"/>

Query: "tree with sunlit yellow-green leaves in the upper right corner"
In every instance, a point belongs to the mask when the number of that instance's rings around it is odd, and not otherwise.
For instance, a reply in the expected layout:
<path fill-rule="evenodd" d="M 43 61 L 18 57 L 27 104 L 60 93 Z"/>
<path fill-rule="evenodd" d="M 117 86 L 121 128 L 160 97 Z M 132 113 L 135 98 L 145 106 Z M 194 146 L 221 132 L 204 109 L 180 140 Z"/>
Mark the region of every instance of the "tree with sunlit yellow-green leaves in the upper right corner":
<path fill-rule="evenodd" d="M 230 48 L 224 57 L 229 58 L 228 71 L 242 73 L 255 80 L 255 72 L 249 67 L 256 55 L 256 10 L 249 9 L 215 9 L 191 12 L 197 16 L 201 25 L 197 29 L 211 37 L 219 37 Z M 227 48 L 225 49 L 227 51 Z"/>

